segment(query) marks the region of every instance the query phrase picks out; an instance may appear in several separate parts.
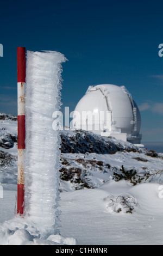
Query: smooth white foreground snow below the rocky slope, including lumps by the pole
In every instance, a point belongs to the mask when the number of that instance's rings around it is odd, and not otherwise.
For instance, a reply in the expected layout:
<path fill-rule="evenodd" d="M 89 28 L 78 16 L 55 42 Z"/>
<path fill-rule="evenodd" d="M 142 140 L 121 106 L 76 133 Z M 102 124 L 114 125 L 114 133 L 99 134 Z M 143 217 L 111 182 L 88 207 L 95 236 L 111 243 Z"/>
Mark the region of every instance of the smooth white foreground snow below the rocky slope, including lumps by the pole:
<path fill-rule="evenodd" d="M 60 234 L 69 237 L 66 244 L 77 245 L 162 245 L 163 199 L 159 184 L 129 186 L 126 181 L 109 181 L 99 188 L 62 192 L 60 201 Z M 39 239 L 37 231 L 14 216 L 16 191 L 4 191 L 1 205 L 1 244 L 42 244 L 60 242 Z M 126 197 L 128 206 L 117 197 Z M 115 210 L 122 209 L 121 212 Z M 4 222 L 5 221 L 5 222 Z M 72 237 L 70 239 L 70 237 Z M 74 240 L 76 239 L 77 242 Z M 64 242 L 64 241 L 62 241 Z"/>

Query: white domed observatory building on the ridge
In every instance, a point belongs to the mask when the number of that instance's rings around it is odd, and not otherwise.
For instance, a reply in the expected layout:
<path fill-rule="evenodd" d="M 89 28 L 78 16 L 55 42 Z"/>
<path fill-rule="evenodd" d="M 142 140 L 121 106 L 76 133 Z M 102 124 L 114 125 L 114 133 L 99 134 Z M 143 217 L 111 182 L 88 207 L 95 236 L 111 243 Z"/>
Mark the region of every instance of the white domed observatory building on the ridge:
<path fill-rule="evenodd" d="M 76 130 L 141 143 L 139 108 L 124 86 L 90 86 L 74 110 L 72 125 Z"/>

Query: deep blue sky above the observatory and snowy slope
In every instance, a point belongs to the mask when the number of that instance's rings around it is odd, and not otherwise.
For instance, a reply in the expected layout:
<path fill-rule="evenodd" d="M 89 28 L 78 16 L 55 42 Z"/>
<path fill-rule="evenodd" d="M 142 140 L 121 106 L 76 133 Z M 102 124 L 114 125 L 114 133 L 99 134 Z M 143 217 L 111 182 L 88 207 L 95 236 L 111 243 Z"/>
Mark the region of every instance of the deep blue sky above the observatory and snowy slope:
<path fill-rule="evenodd" d="M 143 141 L 163 141 L 162 1 L 1 1 L 0 112 L 17 114 L 16 48 L 59 51 L 62 103 L 74 110 L 87 87 L 126 86 Z"/>

